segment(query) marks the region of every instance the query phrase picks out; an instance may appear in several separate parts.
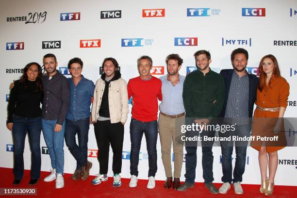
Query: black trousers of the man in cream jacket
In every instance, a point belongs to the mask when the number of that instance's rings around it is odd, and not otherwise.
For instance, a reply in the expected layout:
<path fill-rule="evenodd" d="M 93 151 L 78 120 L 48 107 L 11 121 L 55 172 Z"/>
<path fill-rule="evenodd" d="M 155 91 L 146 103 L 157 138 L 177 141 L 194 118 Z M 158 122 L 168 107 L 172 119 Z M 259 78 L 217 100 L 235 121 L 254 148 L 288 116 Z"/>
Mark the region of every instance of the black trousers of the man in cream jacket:
<path fill-rule="evenodd" d="M 107 174 L 109 145 L 113 149 L 113 172 L 121 173 L 122 152 L 124 141 L 124 125 L 121 122 L 111 123 L 110 120 L 98 121 L 94 124 L 95 137 L 98 146 L 99 173 Z"/>

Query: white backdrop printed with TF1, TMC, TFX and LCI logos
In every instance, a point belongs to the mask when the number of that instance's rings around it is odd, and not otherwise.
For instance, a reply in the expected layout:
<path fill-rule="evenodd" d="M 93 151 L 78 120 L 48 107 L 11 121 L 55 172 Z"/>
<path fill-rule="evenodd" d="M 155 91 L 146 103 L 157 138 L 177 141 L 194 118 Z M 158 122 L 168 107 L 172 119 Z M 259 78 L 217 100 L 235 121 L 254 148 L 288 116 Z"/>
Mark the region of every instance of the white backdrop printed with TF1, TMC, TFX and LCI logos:
<path fill-rule="evenodd" d="M 47 53 L 57 56 L 57 69 L 70 78 L 67 63 L 80 57 L 84 63 L 82 74 L 96 82 L 102 74 L 102 61 L 114 57 L 120 66 L 122 78 L 127 82 L 138 76 L 136 60 L 148 55 L 153 60 L 151 74 L 161 77 L 167 73 L 165 57 L 178 53 L 184 62 L 180 73 L 197 69 L 193 54 L 200 49 L 212 55 L 210 67 L 220 72 L 232 68 L 230 54 L 233 49 L 245 48 L 249 53 L 247 71 L 258 74 L 260 59 L 266 54 L 277 57 L 281 75 L 290 84 L 286 117 L 297 112 L 297 1 L 283 0 L 2 0 L 0 6 L 0 166 L 13 167 L 12 133 L 6 128 L 9 84 L 21 76 L 29 62 L 42 65 Z M 130 112 L 131 112 L 131 104 Z M 131 113 L 125 124 L 123 165 L 121 176 L 130 178 Z M 290 129 L 290 135 L 297 131 Z M 49 171 L 49 153 L 41 135 L 42 167 Z M 157 180 L 165 180 L 161 160 L 160 140 L 157 143 Z M 65 172 L 73 173 L 76 162 L 66 144 Z M 221 182 L 221 151 L 214 147 L 214 182 Z M 88 160 L 93 163 L 91 175 L 99 172 L 98 148 L 91 125 L 89 130 Z M 185 150 L 184 150 L 185 153 Z M 196 181 L 201 182 L 201 148 L 198 148 Z M 173 156 L 173 154 L 172 154 Z M 233 165 L 235 151 L 233 153 Z M 30 169 L 31 155 L 26 139 L 25 169 Z M 172 158 L 173 159 L 173 158 Z M 184 160 L 185 161 L 185 160 Z M 173 162 L 172 162 L 173 164 Z M 108 175 L 112 176 L 112 151 Z M 185 165 L 181 180 L 184 180 Z M 147 179 L 148 152 L 145 138 L 139 155 L 139 178 Z M 279 151 L 276 175 L 278 185 L 297 185 L 296 148 Z M 258 152 L 247 148 L 246 172 L 243 183 L 259 184 Z"/>

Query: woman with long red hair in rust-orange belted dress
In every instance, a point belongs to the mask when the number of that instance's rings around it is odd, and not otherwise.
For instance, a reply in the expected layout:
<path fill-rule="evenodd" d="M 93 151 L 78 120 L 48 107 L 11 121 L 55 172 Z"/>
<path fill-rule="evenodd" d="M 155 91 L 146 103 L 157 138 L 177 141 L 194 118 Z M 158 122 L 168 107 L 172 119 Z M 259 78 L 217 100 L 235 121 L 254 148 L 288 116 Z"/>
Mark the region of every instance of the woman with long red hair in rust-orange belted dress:
<path fill-rule="evenodd" d="M 259 151 L 261 172 L 260 192 L 272 195 L 274 177 L 278 167 L 278 150 L 286 146 L 283 132 L 283 115 L 287 107 L 289 84 L 281 77 L 275 56 L 265 55 L 259 65 L 257 108 L 254 113 L 252 135 L 261 137 L 278 136 L 277 141 L 254 141 L 251 146 Z M 268 158 L 269 157 L 269 158 Z M 267 178 L 267 165 L 269 178 Z"/>

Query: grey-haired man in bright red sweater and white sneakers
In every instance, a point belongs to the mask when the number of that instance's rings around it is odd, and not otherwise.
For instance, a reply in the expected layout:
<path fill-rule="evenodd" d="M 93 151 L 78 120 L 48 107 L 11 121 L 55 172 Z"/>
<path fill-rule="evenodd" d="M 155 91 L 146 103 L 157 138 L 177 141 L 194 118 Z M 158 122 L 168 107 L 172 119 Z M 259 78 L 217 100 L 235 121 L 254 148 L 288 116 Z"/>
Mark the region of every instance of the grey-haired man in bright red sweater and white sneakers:
<path fill-rule="evenodd" d="M 149 56 L 141 56 L 137 60 L 139 77 L 128 82 L 128 98 L 133 98 L 132 118 L 130 123 L 131 153 L 130 187 L 137 186 L 139 151 L 143 133 L 148 150 L 148 188 L 155 187 L 157 172 L 157 138 L 158 138 L 158 99 L 162 100 L 162 82 L 149 75 L 152 60 Z"/>

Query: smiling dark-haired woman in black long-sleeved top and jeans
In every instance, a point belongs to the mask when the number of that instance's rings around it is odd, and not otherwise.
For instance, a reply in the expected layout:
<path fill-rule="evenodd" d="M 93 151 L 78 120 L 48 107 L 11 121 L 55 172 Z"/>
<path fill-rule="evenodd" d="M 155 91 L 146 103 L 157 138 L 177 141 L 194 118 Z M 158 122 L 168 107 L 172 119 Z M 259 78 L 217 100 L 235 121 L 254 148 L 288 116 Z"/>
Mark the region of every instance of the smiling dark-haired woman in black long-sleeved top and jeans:
<path fill-rule="evenodd" d="M 15 86 L 11 89 L 8 103 L 7 128 L 14 139 L 14 184 L 18 184 L 24 174 L 24 146 L 28 132 L 31 148 L 31 180 L 29 185 L 37 183 L 40 177 L 41 154 L 41 109 L 43 99 L 42 69 L 38 63 L 29 63 Z"/>

